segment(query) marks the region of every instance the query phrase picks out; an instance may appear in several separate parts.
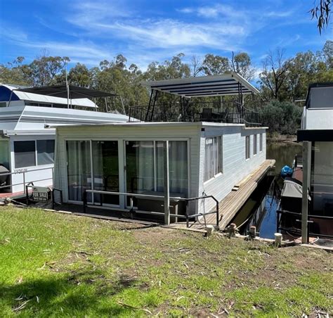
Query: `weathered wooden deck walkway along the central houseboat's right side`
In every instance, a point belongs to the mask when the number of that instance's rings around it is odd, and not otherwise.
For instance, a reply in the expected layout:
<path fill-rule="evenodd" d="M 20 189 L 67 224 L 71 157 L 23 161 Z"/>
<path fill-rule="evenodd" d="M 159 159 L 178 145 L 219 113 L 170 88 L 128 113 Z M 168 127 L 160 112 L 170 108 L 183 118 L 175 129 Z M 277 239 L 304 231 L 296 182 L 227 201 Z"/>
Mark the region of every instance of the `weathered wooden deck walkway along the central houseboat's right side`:
<path fill-rule="evenodd" d="M 265 160 L 258 169 L 254 170 L 252 174 L 249 174 L 244 178 L 239 184 L 236 184 L 233 189 L 219 204 L 218 212 L 220 215 L 220 229 L 225 229 L 236 213 L 242 208 L 244 203 L 247 201 L 249 196 L 258 186 L 261 179 L 265 177 L 271 167 L 275 164 L 275 160 Z M 237 189 L 237 190 L 236 190 Z M 206 224 L 212 224 L 216 226 L 216 215 L 207 215 Z M 183 222 L 178 222 L 171 224 L 171 227 L 185 227 L 186 225 Z M 204 220 L 200 222 L 194 222 L 190 224 L 192 229 L 204 229 L 205 224 Z"/>

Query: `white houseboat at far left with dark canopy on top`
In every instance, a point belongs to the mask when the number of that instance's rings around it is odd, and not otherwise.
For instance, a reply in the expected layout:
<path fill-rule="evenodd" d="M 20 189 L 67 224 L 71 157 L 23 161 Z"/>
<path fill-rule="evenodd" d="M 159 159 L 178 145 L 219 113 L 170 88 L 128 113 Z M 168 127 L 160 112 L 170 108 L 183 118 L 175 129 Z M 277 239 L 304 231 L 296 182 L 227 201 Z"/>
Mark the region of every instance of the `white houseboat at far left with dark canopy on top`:
<path fill-rule="evenodd" d="M 55 126 L 128 121 L 96 111 L 89 96 L 114 94 L 67 85 L 0 85 L 0 198 L 22 195 L 27 184 L 52 186 Z"/>

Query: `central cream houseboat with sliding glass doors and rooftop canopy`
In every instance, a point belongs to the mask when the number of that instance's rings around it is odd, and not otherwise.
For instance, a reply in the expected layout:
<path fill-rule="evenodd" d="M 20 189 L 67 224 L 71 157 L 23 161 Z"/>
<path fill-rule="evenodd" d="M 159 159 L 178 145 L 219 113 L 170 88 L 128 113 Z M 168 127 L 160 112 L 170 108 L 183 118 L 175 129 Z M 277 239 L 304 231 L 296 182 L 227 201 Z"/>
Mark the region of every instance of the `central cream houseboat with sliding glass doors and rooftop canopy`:
<path fill-rule="evenodd" d="M 216 203 L 268 161 L 266 127 L 244 105 L 257 89 L 235 73 L 142 85 L 150 103 L 131 108 L 129 122 L 56 127 L 63 201 L 166 224 L 218 213 Z"/>

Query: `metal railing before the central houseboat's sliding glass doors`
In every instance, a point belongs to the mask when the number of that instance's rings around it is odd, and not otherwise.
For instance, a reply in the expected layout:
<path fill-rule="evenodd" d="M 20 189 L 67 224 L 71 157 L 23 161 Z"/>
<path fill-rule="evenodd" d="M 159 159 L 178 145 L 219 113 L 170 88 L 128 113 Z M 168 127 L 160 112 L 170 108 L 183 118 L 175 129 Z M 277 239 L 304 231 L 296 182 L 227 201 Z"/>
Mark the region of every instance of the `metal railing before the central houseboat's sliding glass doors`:
<path fill-rule="evenodd" d="M 141 193 L 128 193 L 128 192 L 113 192 L 113 191 L 99 191 L 99 190 L 89 190 L 86 189 L 83 192 L 83 208 L 84 208 L 84 213 L 86 213 L 86 208 L 89 206 L 88 200 L 87 200 L 87 193 L 98 193 L 98 194 L 105 194 L 105 195 L 117 195 L 117 196 L 126 196 L 129 197 L 129 212 L 131 212 L 131 217 L 133 218 L 133 213 L 141 213 L 141 214 L 150 214 L 150 215 L 165 215 L 164 212 L 157 212 L 157 211 L 143 211 L 143 210 L 135 210 L 133 206 L 133 198 L 155 198 L 157 200 L 164 200 L 164 196 L 155 196 L 152 194 L 141 194 Z M 190 201 L 198 201 L 202 199 L 207 199 L 211 198 L 212 200 L 215 201 L 216 203 L 216 211 L 211 211 L 207 213 L 197 213 L 195 215 L 190 215 L 188 213 L 188 203 Z M 173 214 L 170 213 L 170 217 L 176 217 L 179 219 L 186 220 L 186 227 L 190 226 L 190 219 L 193 219 L 195 217 L 204 217 L 206 215 L 211 215 L 211 214 L 216 214 L 216 227 L 218 227 L 219 222 L 220 222 L 220 217 L 219 217 L 219 211 L 218 211 L 218 201 L 214 196 L 200 196 L 197 198 L 181 198 L 181 197 L 170 197 L 170 201 L 185 201 L 186 203 L 186 208 L 185 208 L 185 215 L 179 215 L 179 214 Z M 93 204 L 92 204 L 93 205 Z M 100 203 L 101 205 L 101 203 Z M 112 209 L 110 207 L 110 209 Z"/>

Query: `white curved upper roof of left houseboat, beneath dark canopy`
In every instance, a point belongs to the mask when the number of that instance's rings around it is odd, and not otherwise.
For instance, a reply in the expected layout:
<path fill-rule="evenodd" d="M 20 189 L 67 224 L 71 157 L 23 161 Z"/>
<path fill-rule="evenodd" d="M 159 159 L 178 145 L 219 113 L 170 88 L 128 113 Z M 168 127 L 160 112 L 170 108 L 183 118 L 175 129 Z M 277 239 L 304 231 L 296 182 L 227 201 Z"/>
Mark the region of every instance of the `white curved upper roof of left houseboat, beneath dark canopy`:
<path fill-rule="evenodd" d="M 57 103 L 57 104 L 64 104 L 67 105 L 67 98 L 61 97 L 53 97 L 53 96 L 46 96 L 34 93 L 27 93 L 25 91 L 18 91 L 17 87 L 10 86 L 8 84 L 2 84 L 4 87 L 11 89 L 15 93 L 18 98 L 22 101 L 32 101 L 37 103 Z M 72 105 L 74 106 L 84 106 L 84 107 L 92 107 L 96 108 L 96 104 L 93 103 L 89 98 L 79 98 L 79 99 L 72 99 Z"/>

